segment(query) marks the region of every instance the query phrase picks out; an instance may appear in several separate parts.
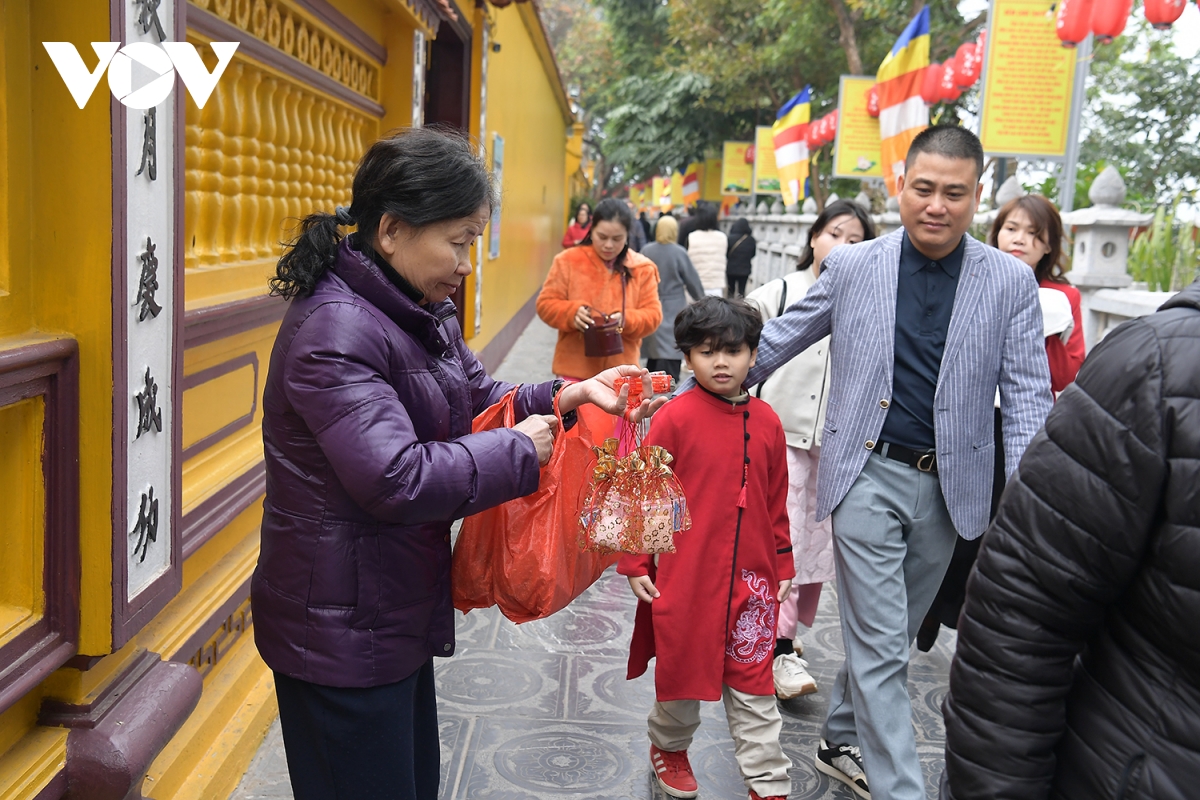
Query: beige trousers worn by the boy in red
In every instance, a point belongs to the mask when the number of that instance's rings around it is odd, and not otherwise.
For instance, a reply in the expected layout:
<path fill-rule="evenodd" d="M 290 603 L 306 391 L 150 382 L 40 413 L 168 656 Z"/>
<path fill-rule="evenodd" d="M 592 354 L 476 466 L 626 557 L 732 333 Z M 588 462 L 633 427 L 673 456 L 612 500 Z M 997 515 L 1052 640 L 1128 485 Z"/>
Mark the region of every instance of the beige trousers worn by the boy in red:
<path fill-rule="evenodd" d="M 792 790 L 792 781 L 787 777 L 792 762 L 779 745 L 784 721 L 775 696 L 746 694 L 724 686 L 721 699 L 733 736 L 733 756 L 746 788 L 760 798 L 786 796 Z M 688 750 L 700 727 L 700 700 L 655 703 L 648 723 L 650 741 L 659 750 Z"/>

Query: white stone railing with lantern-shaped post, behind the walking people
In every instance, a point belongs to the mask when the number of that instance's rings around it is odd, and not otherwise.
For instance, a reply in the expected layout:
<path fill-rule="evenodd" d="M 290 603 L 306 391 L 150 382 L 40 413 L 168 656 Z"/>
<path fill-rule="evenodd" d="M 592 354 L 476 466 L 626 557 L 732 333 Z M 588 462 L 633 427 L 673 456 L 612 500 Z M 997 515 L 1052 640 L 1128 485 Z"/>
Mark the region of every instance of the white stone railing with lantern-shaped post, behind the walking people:
<path fill-rule="evenodd" d="M 1010 178 L 996 193 L 996 206 L 1021 193 L 1016 179 Z M 1084 341 L 1088 349 L 1127 319 L 1154 313 L 1175 294 L 1146 291 L 1145 285 L 1133 283 L 1129 277 L 1130 236 L 1139 227 L 1150 224 L 1152 215 L 1121 207 L 1124 194 L 1121 175 L 1110 167 L 1097 176 L 1088 191 L 1094 205 L 1063 215 L 1063 223 L 1073 231 L 1074 242 L 1072 270 L 1067 277 L 1082 295 Z M 833 199 L 836 196 L 830 201 Z M 854 200 L 865 205 L 863 196 Z M 778 200 L 773 209 L 760 203 L 752 212 L 734 206 L 731 215 L 721 221 L 721 229 L 728 233 L 734 218 L 745 218 L 757 242 L 748 291 L 796 270 L 809 230 L 817 218 L 815 205 L 809 203 L 811 200 L 803 211 L 793 209 L 799 211 L 797 213 L 785 212 Z M 889 200 L 887 211 L 871 217 L 881 236 L 900 227 L 894 200 Z M 974 224 L 986 229 L 995 218 L 995 210 L 982 211 L 976 215 Z"/>

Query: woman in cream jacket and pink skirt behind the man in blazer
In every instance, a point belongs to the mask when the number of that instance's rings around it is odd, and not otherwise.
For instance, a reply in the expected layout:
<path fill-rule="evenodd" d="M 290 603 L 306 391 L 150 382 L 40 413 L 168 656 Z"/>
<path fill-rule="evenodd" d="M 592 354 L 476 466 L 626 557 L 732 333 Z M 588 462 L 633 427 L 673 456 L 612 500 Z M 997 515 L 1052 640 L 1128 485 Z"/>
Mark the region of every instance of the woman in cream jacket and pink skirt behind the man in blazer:
<path fill-rule="evenodd" d="M 797 271 L 751 291 L 746 302 L 758 308 L 763 320 L 780 315 L 816 283 L 821 264 L 834 247 L 868 239 L 875 239 L 875 223 L 860 206 L 848 200 L 829 204 L 809 230 Z M 821 587 L 834 577 L 833 529 L 828 518 L 816 521 L 817 458 L 828 387 L 827 336 L 751 390 L 779 415 L 787 440 L 787 517 L 792 525 L 796 579 L 792 594 L 780 603 L 775 633 L 775 694 L 780 699 L 817 691 L 816 681 L 805 669 L 808 663 L 800 658 L 804 648 L 796 631 L 798 622 L 811 627 Z"/>

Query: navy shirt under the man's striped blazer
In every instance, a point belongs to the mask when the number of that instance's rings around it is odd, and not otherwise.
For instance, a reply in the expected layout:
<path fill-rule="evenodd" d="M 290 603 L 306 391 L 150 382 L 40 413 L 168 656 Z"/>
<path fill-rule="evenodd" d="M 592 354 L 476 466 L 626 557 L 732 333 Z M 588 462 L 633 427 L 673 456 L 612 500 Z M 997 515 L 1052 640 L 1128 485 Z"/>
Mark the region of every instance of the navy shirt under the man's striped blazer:
<path fill-rule="evenodd" d="M 892 403 L 880 439 L 912 450 L 934 450 L 934 392 L 942 369 L 946 333 L 962 270 L 964 237 L 953 253 L 934 261 L 913 246 L 900 245 L 896 279 L 896 336 Z"/>

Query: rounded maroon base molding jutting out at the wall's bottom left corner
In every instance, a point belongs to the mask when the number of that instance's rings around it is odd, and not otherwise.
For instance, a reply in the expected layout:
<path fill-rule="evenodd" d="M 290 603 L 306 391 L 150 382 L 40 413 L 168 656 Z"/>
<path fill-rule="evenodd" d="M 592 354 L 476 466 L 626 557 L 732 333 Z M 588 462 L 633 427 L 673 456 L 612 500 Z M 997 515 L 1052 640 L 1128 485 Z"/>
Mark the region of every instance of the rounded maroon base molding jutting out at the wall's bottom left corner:
<path fill-rule="evenodd" d="M 191 715 L 203 688 L 192 667 L 142 651 L 94 702 L 43 700 L 38 723 L 70 729 L 70 796 L 140 798 L 146 770 Z"/>

